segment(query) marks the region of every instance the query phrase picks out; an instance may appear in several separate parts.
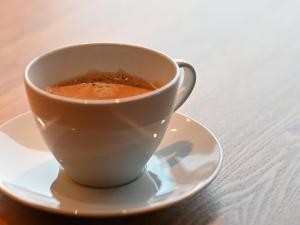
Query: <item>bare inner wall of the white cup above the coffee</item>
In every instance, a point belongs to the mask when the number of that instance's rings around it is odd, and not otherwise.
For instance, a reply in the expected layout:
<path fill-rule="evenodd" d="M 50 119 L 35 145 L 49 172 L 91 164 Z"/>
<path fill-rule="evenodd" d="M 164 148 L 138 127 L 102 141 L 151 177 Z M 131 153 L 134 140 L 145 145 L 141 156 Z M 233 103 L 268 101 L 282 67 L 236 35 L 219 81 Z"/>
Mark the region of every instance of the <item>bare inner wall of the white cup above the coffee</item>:
<path fill-rule="evenodd" d="M 30 66 L 28 78 L 44 89 L 90 70 L 123 70 L 162 86 L 176 75 L 174 63 L 157 52 L 126 45 L 91 44 L 56 50 L 38 58 Z"/>

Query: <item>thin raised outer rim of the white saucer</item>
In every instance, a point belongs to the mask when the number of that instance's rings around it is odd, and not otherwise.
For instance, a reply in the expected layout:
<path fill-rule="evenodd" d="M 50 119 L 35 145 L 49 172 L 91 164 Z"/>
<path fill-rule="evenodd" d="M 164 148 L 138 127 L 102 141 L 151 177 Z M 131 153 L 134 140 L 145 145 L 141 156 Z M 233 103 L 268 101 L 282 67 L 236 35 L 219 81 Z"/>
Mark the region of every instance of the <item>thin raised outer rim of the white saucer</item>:
<path fill-rule="evenodd" d="M 32 112 L 31 111 L 23 112 L 15 117 L 5 121 L 4 123 L 2 123 L 0 125 L 0 130 L 3 127 L 5 127 L 7 124 L 9 124 L 10 122 L 13 122 L 14 120 L 18 119 L 19 117 L 27 116 L 29 114 L 32 114 Z M 116 210 L 116 211 L 111 211 L 111 212 L 110 211 L 92 211 L 92 212 L 91 211 L 90 212 L 89 211 L 80 211 L 80 212 L 74 213 L 74 211 L 70 211 L 70 210 L 66 210 L 66 209 L 62 209 L 62 208 L 53 208 L 53 207 L 49 207 L 49 206 L 38 204 L 38 203 L 32 203 L 32 202 L 26 201 L 18 196 L 15 196 L 12 193 L 10 193 L 9 191 L 6 191 L 6 189 L 2 187 L 1 179 L 0 179 L 0 192 L 3 195 L 10 198 L 11 200 L 16 201 L 22 205 L 28 206 L 28 207 L 36 209 L 36 210 L 42 210 L 44 212 L 57 214 L 57 215 L 64 215 L 64 216 L 71 216 L 71 217 L 89 217 L 89 218 L 126 217 L 126 216 L 140 215 L 140 214 L 144 214 L 144 213 L 149 213 L 149 212 L 169 208 L 180 202 L 184 202 L 188 199 L 191 199 L 196 194 L 203 191 L 217 177 L 218 173 L 221 170 L 222 164 L 223 164 L 223 154 L 224 153 L 223 153 L 223 149 L 222 149 L 222 146 L 221 146 L 219 140 L 212 133 L 212 131 L 210 131 L 206 126 L 204 126 L 197 120 L 190 118 L 189 116 L 185 115 L 184 113 L 174 112 L 173 114 L 176 114 L 180 117 L 188 118 L 191 121 L 193 121 L 194 123 L 196 123 L 198 126 L 204 128 L 214 138 L 214 140 L 218 146 L 218 149 L 219 149 L 218 165 L 217 165 L 217 168 L 212 173 L 212 175 L 210 175 L 209 178 L 206 179 L 201 184 L 198 183 L 191 191 L 185 193 L 180 198 L 177 198 L 175 200 L 167 200 L 167 201 L 164 201 L 162 204 L 156 203 L 154 205 L 148 205 L 148 206 L 139 207 L 136 209 L 127 210 L 126 213 L 122 210 Z"/>

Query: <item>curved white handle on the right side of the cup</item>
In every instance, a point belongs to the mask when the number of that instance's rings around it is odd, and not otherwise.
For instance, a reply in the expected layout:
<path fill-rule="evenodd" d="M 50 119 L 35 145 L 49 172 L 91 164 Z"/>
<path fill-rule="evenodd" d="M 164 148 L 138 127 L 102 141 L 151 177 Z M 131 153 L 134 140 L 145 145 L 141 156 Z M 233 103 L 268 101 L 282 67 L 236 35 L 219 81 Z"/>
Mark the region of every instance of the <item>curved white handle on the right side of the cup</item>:
<path fill-rule="evenodd" d="M 195 83 L 196 83 L 196 71 L 194 67 L 181 59 L 175 59 L 179 68 L 182 68 L 184 73 L 181 75 L 181 81 L 179 84 L 174 111 L 176 111 L 190 96 Z"/>

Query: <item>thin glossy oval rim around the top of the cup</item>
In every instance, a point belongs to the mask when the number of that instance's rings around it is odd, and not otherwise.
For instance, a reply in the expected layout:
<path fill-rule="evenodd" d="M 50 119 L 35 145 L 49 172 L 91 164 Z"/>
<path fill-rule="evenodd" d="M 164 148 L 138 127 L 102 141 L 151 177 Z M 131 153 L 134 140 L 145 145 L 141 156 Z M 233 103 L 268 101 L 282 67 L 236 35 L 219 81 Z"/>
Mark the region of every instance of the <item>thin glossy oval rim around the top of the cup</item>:
<path fill-rule="evenodd" d="M 60 95 L 54 95 L 51 93 L 48 93 L 47 91 L 37 87 L 36 85 L 34 85 L 32 83 L 32 81 L 29 78 L 29 70 L 30 68 L 37 63 L 40 59 L 45 58 L 49 55 L 55 54 L 59 51 L 63 51 L 66 49 L 70 49 L 70 48 L 78 48 L 78 47 L 85 47 L 85 46 L 96 46 L 96 45 L 103 45 L 103 46 L 107 46 L 107 45 L 111 45 L 111 46 L 125 46 L 125 47 L 131 47 L 131 48 L 138 48 L 140 50 L 143 51 L 150 51 L 156 55 L 159 55 L 161 57 L 164 57 L 165 59 L 167 59 L 167 61 L 169 61 L 174 67 L 175 67 L 175 76 L 165 85 L 163 85 L 162 87 L 159 87 L 153 91 L 150 91 L 148 93 L 145 94 L 141 94 L 141 95 L 135 95 L 135 96 L 130 96 L 130 97 L 124 97 L 124 98 L 118 98 L 118 99 L 79 99 L 79 98 L 72 98 L 72 97 L 65 97 L 65 96 L 60 96 Z M 110 42 L 103 42 L 103 43 L 87 43 L 87 44 L 77 44 L 77 45 L 69 45 L 66 47 L 62 47 L 62 48 L 57 48 L 54 50 L 51 50 L 47 53 L 43 53 L 37 57 L 35 57 L 34 59 L 32 59 L 26 66 L 25 68 L 25 74 L 24 74 L 24 81 L 25 83 L 31 88 L 33 89 L 35 92 L 39 93 L 40 95 L 47 97 L 47 98 L 51 98 L 54 100 L 58 100 L 58 101 L 63 101 L 66 103 L 75 103 L 75 104 L 84 104 L 84 105 L 107 105 L 107 104 L 120 104 L 120 103 L 126 103 L 126 102 L 132 102 L 132 101 L 137 101 L 137 100 L 142 100 L 142 99 L 146 99 L 152 96 L 156 96 L 158 94 L 160 94 L 161 92 L 166 91 L 169 87 L 171 87 L 172 85 L 174 85 L 176 83 L 176 81 L 179 79 L 179 66 L 178 64 L 171 59 L 169 56 L 167 56 L 166 54 L 157 51 L 157 50 L 153 50 L 150 48 L 146 48 L 146 47 L 142 47 L 142 46 L 138 46 L 138 45 L 132 45 L 132 44 L 123 44 L 123 43 L 110 43 Z"/>

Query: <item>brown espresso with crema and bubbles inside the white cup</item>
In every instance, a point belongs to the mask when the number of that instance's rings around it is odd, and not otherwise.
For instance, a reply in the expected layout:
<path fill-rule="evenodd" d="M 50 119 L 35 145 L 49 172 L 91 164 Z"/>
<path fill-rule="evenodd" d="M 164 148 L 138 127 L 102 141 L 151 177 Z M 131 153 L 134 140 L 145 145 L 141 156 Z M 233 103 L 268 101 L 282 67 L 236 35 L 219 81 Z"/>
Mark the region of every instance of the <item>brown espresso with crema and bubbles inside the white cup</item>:
<path fill-rule="evenodd" d="M 157 89 L 157 83 L 119 72 L 89 72 L 75 79 L 46 87 L 55 95 L 79 99 L 119 99 L 141 95 Z"/>

